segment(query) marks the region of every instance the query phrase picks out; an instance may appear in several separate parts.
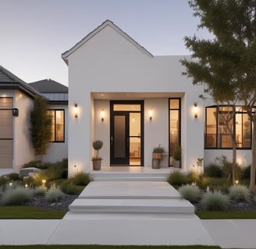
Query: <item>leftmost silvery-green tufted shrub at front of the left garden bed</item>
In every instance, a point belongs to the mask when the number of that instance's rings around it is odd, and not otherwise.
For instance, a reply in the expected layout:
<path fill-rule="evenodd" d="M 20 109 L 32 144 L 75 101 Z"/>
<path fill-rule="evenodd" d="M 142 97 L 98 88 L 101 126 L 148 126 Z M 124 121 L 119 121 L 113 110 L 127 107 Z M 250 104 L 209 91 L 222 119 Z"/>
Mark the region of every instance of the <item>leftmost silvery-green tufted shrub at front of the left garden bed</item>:
<path fill-rule="evenodd" d="M 2 193 L 1 205 L 20 205 L 28 201 L 33 196 L 33 191 L 30 188 L 17 187 L 6 188 Z"/>

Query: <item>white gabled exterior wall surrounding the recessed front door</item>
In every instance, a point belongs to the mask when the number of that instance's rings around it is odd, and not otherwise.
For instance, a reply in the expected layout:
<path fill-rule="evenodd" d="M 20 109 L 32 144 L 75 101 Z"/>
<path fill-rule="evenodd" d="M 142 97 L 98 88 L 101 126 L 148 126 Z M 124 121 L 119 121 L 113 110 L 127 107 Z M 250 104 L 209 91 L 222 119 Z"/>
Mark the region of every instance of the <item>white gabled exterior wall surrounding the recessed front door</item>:
<path fill-rule="evenodd" d="M 181 75 L 184 69 L 180 58 L 152 58 L 109 26 L 69 55 L 69 176 L 74 170 L 91 170 L 91 142 L 94 139 L 104 140 L 105 145 L 100 153 L 104 157 L 103 165 L 109 163 L 107 102 L 94 102 L 91 93 L 130 93 L 130 96 L 132 93 L 172 93 L 175 96 L 176 93 L 176 96 L 183 96 L 183 168 L 188 169 L 196 160 L 195 157 L 203 157 L 204 118 L 198 114 L 199 118 L 195 120 L 191 113 L 200 93 L 190 80 Z M 78 118 L 73 114 L 75 103 L 79 107 Z M 161 143 L 168 148 L 168 98 L 145 99 L 144 103 L 144 164 L 150 167 L 153 147 Z M 151 107 L 156 111 L 149 123 L 147 112 Z M 106 110 L 103 123 L 98 118 L 102 108 Z M 157 141 L 156 137 L 152 137 L 152 130 L 161 131 Z M 195 142 L 199 146 L 195 146 Z"/>

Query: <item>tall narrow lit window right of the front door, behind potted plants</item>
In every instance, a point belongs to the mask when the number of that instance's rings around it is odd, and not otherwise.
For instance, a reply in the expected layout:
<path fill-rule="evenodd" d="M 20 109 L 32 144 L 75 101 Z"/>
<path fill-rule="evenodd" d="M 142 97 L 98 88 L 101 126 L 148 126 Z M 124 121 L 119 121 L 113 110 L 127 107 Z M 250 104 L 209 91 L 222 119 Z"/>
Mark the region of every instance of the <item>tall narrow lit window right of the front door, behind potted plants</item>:
<path fill-rule="evenodd" d="M 180 146 L 180 98 L 169 100 L 169 154 Z"/>

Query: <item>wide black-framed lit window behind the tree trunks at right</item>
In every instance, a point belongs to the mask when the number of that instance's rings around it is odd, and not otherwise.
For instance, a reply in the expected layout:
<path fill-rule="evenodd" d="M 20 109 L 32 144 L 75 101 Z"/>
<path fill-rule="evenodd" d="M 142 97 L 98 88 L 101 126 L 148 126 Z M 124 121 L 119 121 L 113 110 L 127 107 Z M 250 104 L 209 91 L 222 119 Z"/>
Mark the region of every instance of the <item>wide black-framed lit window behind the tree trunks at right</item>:
<path fill-rule="evenodd" d="M 231 149 L 231 131 L 236 138 L 236 149 L 251 149 L 251 128 L 252 124 L 244 107 L 206 107 L 204 148 Z"/>

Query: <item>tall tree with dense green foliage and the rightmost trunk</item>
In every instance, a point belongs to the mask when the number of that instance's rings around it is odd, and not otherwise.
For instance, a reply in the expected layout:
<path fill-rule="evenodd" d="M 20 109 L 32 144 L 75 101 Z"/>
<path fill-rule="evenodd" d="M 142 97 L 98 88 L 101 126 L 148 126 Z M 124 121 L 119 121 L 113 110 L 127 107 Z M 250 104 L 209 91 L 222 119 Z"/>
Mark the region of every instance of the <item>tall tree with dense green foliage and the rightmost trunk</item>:
<path fill-rule="evenodd" d="M 256 167 L 256 0 L 191 0 L 198 28 L 215 38 L 185 37 L 192 60 L 184 59 L 184 74 L 205 87 L 215 102 L 241 103 L 247 109 L 252 131 L 250 188 L 255 187 Z"/>

